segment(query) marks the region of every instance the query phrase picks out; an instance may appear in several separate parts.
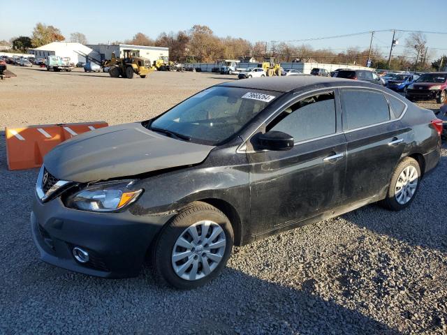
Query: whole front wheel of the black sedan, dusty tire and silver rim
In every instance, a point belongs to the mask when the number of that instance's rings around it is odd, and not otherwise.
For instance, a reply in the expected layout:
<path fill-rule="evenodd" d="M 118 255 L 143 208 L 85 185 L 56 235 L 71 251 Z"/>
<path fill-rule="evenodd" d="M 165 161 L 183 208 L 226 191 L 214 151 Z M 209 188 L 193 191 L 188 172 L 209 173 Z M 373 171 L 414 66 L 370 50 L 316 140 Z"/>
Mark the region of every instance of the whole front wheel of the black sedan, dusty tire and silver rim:
<path fill-rule="evenodd" d="M 219 248 L 210 249 L 208 246 L 210 242 L 203 239 L 202 232 L 207 224 L 205 237 L 210 238 L 212 234 L 217 234 L 212 241 L 214 244 L 219 244 Z M 193 239 L 189 231 L 196 232 L 196 239 Z M 181 240 L 180 237 L 184 239 Z M 179 243 L 188 247 L 179 246 Z M 197 251 L 196 248 L 199 247 L 200 251 Z M 174 288 L 183 290 L 198 288 L 211 281 L 225 267 L 232 248 L 233 228 L 225 214 L 205 202 L 193 202 L 171 218 L 156 239 L 152 251 L 154 275 L 157 281 Z M 174 253 L 177 255 L 177 260 L 173 258 Z M 182 253 L 189 255 L 182 257 Z M 207 255 L 211 254 L 214 255 L 213 259 L 207 258 Z M 208 274 L 205 274 L 204 261 L 207 264 Z M 195 279 L 196 276 L 198 278 Z"/>

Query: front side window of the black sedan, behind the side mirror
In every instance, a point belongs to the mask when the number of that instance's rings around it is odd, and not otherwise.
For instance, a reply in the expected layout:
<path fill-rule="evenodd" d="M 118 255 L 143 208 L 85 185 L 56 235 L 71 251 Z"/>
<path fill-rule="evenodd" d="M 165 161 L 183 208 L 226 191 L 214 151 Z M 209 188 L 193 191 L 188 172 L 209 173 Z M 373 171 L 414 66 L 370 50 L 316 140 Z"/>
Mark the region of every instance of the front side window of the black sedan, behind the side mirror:
<path fill-rule="evenodd" d="M 287 107 L 267 127 L 267 131 L 282 131 L 295 142 L 311 140 L 335 133 L 334 92 L 304 98 Z"/>

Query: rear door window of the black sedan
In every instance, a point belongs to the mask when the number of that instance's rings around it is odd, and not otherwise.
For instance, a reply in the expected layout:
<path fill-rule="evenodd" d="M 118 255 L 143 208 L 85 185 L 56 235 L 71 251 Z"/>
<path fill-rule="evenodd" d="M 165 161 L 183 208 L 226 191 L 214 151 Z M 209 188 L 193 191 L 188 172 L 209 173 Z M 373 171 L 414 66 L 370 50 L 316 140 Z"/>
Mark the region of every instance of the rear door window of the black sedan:
<path fill-rule="evenodd" d="M 390 120 L 390 107 L 378 91 L 344 89 L 340 94 L 346 130 Z"/>

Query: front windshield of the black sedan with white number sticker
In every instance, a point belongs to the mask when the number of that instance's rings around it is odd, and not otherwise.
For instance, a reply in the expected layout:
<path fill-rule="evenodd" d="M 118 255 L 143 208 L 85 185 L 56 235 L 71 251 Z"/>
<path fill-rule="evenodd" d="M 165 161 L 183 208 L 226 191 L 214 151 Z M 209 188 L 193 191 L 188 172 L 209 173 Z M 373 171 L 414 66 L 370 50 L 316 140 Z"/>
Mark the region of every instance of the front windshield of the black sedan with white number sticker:
<path fill-rule="evenodd" d="M 148 128 L 183 140 L 215 145 L 240 131 L 277 96 L 272 91 L 210 87 L 179 103 Z"/>

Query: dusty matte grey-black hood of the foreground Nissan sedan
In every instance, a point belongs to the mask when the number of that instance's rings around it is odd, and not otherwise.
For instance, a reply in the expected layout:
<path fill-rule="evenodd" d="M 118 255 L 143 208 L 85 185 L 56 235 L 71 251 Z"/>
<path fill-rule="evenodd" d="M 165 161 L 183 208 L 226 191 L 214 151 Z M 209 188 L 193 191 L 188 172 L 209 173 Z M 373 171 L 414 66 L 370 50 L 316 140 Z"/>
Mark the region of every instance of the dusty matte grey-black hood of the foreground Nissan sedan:
<path fill-rule="evenodd" d="M 198 164 L 212 149 L 133 123 L 77 135 L 54 147 L 43 164 L 57 179 L 85 183 Z"/>

